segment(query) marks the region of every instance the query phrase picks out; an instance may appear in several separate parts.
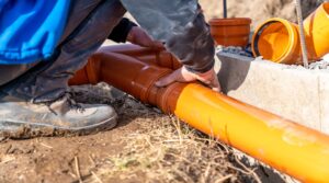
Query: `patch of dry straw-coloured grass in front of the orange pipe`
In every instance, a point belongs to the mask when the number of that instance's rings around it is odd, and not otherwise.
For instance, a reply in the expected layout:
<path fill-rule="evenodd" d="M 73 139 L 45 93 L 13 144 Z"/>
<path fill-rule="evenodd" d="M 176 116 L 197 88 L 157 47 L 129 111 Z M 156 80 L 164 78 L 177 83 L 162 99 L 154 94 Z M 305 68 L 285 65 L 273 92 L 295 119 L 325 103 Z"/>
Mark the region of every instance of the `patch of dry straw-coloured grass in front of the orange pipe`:
<path fill-rule="evenodd" d="M 116 157 L 98 171 L 102 179 L 137 179 L 146 182 L 257 181 L 250 168 L 238 167 L 232 150 L 203 136 L 175 118 L 145 119 L 141 130 L 123 138 Z M 135 178 L 134 178 L 135 176 Z M 127 179 L 128 178 L 128 179 Z M 140 180 L 140 182 L 144 182 Z"/>

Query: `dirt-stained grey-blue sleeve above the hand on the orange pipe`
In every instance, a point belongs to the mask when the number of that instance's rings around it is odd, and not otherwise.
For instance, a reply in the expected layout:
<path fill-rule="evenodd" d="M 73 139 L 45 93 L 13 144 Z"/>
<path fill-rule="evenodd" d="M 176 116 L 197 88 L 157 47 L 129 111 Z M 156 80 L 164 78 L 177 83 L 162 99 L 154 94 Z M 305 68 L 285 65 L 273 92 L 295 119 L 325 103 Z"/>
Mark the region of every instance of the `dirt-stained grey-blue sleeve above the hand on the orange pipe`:
<path fill-rule="evenodd" d="M 191 71 L 214 66 L 215 47 L 197 0 L 121 0 L 138 24 Z"/>

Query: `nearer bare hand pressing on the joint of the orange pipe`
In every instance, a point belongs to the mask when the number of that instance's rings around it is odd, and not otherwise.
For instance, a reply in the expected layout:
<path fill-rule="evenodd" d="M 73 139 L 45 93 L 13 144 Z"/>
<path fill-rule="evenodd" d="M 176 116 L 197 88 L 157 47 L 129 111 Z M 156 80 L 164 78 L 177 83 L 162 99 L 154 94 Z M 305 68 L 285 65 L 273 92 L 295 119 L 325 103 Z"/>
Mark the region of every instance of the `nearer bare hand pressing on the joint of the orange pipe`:
<path fill-rule="evenodd" d="M 156 82 L 157 87 L 167 87 L 173 82 L 192 82 L 201 81 L 212 88 L 216 92 L 220 92 L 222 88 L 217 78 L 217 75 L 214 69 L 206 71 L 204 73 L 194 73 L 189 71 L 184 66 L 180 69 L 173 71 L 171 75 L 161 78 Z"/>

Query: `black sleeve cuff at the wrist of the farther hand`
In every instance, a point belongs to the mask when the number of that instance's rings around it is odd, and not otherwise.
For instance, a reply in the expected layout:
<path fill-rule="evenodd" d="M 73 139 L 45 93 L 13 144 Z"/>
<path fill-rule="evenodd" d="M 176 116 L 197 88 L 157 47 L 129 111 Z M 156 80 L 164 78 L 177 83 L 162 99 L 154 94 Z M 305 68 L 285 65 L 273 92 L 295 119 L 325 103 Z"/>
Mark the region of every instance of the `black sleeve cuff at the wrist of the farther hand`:
<path fill-rule="evenodd" d="M 126 18 L 123 18 L 120 23 L 112 30 L 107 38 L 116 43 L 125 43 L 131 30 L 134 26 L 137 26 L 137 24 Z"/>

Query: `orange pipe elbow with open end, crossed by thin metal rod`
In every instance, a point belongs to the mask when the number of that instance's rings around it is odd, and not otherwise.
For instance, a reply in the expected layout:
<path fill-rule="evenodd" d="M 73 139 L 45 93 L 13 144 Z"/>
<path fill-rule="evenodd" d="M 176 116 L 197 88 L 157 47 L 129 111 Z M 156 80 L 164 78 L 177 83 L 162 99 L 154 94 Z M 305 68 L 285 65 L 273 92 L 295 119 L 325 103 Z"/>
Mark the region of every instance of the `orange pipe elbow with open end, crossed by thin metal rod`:
<path fill-rule="evenodd" d="M 329 2 L 324 2 L 304 20 L 308 59 L 316 61 L 329 53 Z M 274 18 L 262 23 L 252 37 L 252 53 L 282 64 L 302 64 L 296 24 Z"/>

